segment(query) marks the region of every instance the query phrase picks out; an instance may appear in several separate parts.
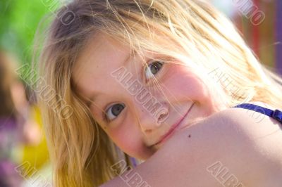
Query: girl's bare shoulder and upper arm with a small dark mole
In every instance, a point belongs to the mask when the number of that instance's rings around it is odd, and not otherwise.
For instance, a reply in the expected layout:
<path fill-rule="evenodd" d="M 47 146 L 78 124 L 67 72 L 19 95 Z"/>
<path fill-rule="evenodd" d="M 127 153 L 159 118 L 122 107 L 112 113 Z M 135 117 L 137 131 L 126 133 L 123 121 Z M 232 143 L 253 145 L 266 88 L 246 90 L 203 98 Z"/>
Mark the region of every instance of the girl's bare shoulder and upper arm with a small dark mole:
<path fill-rule="evenodd" d="M 257 116 L 256 116 L 257 117 Z M 106 186 L 281 186 L 282 130 L 232 108 L 179 131 Z"/>

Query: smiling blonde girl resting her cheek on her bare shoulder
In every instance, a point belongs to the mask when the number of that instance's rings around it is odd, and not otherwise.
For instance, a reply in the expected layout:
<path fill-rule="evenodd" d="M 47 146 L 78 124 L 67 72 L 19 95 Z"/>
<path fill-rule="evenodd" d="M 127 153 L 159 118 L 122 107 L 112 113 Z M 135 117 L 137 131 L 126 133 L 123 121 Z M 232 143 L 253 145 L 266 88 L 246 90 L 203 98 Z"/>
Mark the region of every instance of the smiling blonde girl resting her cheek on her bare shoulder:
<path fill-rule="evenodd" d="M 44 44 L 56 186 L 281 184 L 281 78 L 207 1 L 76 0 Z"/>

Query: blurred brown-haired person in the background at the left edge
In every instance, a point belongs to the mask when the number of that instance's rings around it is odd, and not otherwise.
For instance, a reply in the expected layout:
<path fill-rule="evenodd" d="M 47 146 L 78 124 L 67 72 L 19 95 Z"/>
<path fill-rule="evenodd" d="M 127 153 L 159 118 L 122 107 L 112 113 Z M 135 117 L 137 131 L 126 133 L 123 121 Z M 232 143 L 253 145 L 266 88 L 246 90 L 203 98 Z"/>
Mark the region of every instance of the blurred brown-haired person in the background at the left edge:
<path fill-rule="evenodd" d="M 0 51 L 1 187 L 20 186 L 25 176 L 16 167 L 23 161 L 25 151 L 20 154 L 17 148 L 20 144 L 36 146 L 42 139 L 38 124 L 30 118 L 25 86 L 17 78 L 15 65 L 11 56 Z"/>

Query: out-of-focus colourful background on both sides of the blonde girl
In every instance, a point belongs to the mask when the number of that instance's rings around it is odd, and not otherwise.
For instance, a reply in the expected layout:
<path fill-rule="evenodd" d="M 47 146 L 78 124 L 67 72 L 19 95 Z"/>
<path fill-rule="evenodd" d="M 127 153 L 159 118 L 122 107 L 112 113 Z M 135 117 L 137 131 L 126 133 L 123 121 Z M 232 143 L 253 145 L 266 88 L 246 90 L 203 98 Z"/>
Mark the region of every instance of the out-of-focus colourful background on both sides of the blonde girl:
<path fill-rule="evenodd" d="M 210 0 L 235 23 L 264 65 L 282 74 L 282 1 Z M 0 0 L 0 187 L 51 186 L 51 167 L 31 70 L 34 37 L 59 0 Z"/>

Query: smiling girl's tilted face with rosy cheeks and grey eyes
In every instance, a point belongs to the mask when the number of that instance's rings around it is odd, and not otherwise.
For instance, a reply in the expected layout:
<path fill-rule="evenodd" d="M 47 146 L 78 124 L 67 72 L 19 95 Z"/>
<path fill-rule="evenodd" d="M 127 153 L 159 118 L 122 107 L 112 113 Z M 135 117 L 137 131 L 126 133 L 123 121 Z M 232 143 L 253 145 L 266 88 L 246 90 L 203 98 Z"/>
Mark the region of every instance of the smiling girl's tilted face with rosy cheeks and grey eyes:
<path fill-rule="evenodd" d="M 189 67 L 145 57 L 130 56 L 129 47 L 102 35 L 87 44 L 73 72 L 94 119 L 121 150 L 142 160 L 221 105 Z"/>

